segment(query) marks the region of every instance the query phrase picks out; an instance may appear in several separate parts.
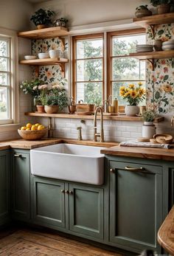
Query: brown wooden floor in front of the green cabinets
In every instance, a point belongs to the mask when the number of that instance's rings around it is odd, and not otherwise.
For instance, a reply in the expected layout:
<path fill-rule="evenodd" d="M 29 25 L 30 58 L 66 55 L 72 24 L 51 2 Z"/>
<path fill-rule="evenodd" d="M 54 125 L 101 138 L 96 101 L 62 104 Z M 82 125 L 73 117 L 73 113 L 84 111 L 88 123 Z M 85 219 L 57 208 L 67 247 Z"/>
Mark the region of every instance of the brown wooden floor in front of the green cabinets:
<path fill-rule="evenodd" d="M 28 228 L 0 231 L 0 255 L 126 256 L 63 237 L 56 232 Z"/>

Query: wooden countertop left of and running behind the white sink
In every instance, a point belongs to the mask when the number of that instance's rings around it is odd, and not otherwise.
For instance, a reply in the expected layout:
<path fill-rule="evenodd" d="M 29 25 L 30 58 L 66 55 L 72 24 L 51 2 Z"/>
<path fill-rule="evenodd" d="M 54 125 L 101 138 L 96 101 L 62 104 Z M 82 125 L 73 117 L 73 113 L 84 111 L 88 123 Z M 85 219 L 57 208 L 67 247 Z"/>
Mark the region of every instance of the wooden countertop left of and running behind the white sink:
<path fill-rule="evenodd" d="M 41 140 L 25 140 L 25 139 L 13 139 L 0 142 L 0 151 L 8 148 L 20 148 L 20 149 L 32 149 L 39 148 L 48 145 L 54 145 L 58 143 L 71 143 L 78 145 L 91 145 L 98 147 L 112 147 L 118 145 L 118 142 L 93 142 L 91 140 L 77 140 L 77 139 L 63 139 L 63 138 L 52 138 L 52 139 L 41 139 Z"/>

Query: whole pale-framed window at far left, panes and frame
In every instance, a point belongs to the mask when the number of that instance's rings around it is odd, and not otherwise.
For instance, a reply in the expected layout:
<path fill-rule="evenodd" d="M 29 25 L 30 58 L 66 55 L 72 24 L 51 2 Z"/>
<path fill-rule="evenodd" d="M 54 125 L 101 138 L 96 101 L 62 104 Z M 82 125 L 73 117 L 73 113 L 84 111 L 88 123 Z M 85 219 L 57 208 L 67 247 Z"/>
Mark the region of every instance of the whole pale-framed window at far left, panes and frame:
<path fill-rule="evenodd" d="M 14 89 L 15 79 L 15 32 L 0 30 L 0 125 L 13 123 L 16 116 Z"/>

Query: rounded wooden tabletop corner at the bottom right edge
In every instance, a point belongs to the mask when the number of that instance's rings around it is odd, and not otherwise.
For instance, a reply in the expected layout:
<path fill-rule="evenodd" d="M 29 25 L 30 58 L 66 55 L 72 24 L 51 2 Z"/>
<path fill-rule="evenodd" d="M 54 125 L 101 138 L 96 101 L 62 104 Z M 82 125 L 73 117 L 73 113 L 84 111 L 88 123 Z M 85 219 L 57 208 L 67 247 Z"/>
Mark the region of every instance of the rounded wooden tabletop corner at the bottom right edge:
<path fill-rule="evenodd" d="M 174 255 L 174 206 L 159 229 L 158 241 L 170 255 Z"/>

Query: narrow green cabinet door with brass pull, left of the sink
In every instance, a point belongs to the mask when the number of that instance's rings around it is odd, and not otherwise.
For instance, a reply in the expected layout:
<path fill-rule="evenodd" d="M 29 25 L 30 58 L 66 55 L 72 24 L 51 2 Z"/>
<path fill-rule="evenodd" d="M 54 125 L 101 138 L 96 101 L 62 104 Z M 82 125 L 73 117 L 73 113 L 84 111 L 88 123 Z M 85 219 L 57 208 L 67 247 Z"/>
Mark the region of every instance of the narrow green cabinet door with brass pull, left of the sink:
<path fill-rule="evenodd" d="M 29 153 L 13 150 L 13 217 L 30 218 Z"/>

